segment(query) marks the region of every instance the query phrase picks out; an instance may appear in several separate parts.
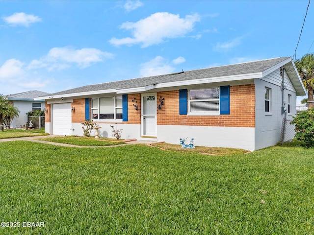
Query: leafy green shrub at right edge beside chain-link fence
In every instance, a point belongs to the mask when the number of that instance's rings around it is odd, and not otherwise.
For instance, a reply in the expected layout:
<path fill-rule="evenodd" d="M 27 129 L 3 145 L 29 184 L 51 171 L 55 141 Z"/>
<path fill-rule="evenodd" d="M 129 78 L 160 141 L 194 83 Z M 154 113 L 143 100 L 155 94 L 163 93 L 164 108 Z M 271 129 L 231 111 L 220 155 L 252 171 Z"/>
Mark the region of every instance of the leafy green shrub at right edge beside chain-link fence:
<path fill-rule="evenodd" d="M 314 108 L 298 113 L 291 121 L 295 125 L 295 139 L 304 141 L 307 147 L 314 146 Z"/>

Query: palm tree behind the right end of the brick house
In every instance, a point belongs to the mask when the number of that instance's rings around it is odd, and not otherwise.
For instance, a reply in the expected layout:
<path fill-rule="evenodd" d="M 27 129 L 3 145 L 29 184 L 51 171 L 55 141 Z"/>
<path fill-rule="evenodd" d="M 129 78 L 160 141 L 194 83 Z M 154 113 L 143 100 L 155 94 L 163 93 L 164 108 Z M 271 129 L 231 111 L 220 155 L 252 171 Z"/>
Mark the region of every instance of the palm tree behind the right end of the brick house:
<path fill-rule="evenodd" d="M 308 90 L 309 109 L 313 108 L 314 54 L 305 54 L 301 57 L 301 59 L 296 59 L 295 66 L 300 74 L 305 88 Z"/>

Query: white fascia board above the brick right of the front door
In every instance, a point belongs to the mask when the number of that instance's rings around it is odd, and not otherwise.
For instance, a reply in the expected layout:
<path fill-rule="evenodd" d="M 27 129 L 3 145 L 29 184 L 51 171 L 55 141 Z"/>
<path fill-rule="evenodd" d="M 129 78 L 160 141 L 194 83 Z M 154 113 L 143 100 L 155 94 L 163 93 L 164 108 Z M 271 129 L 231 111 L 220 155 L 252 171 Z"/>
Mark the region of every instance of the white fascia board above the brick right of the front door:
<path fill-rule="evenodd" d="M 195 84 L 215 83 L 215 82 L 230 82 L 230 81 L 247 80 L 247 79 L 254 79 L 254 78 L 262 78 L 262 73 L 257 72 L 257 73 L 239 74 L 239 75 L 232 75 L 232 76 L 210 77 L 210 78 L 202 78 L 202 79 L 194 79 L 194 80 L 186 80 L 186 81 L 159 83 L 155 86 L 155 88 L 188 86 L 188 85 L 195 85 Z"/>

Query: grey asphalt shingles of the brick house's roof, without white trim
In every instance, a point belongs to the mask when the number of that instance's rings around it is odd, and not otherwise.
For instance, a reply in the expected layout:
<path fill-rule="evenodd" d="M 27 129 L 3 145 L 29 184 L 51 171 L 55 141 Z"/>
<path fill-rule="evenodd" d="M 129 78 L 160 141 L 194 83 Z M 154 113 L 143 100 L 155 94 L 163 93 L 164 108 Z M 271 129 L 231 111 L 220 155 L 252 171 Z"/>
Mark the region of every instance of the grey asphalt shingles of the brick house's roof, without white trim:
<path fill-rule="evenodd" d="M 288 58 L 290 57 L 279 57 L 279 58 L 247 62 L 247 63 L 241 63 L 241 64 L 212 67 L 212 68 L 207 68 L 207 69 L 184 71 L 184 72 L 178 72 L 178 73 L 172 73 L 172 74 L 164 74 L 164 75 L 157 75 L 157 76 L 151 76 L 151 77 L 142 77 L 142 78 L 122 80 L 122 81 L 107 82 L 107 83 L 78 87 L 78 88 L 61 91 L 61 92 L 57 92 L 57 93 L 53 93 L 49 95 L 75 94 L 75 93 L 81 93 L 81 92 L 92 92 L 92 91 L 101 91 L 101 90 L 109 90 L 109 89 L 127 89 L 127 88 L 144 87 L 144 86 L 153 85 L 157 83 L 257 73 L 257 72 L 265 71 Z M 43 95 L 38 95 L 38 96 L 43 96 Z"/>

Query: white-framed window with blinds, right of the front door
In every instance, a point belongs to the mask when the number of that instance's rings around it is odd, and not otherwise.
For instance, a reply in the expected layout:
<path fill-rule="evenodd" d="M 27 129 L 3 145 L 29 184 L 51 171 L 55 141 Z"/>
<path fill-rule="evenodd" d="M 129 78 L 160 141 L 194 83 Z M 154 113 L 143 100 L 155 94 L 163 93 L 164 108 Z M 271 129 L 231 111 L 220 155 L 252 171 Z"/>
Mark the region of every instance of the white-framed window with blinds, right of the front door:
<path fill-rule="evenodd" d="M 219 87 L 188 92 L 189 115 L 219 115 Z"/>

